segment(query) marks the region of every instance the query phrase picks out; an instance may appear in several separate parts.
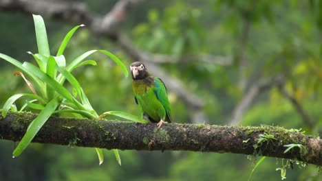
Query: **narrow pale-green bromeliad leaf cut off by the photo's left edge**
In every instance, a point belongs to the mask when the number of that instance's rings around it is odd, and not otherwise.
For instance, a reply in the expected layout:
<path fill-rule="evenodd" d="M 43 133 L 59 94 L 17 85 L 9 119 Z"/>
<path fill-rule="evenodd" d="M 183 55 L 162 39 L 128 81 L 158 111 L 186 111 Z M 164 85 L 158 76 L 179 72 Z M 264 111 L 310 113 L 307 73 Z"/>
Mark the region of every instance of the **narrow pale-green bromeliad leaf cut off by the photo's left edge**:
<path fill-rule="evenodd" d="M 23 71 L 25 73 L 25 75 L 28 75 L 28 77 L 31 78 L 30 81 L 32 81 L 36 86 L 37 90 L 41 90 L 41 95 L 45 96 L 45 85 L 43 84 L 43 82 L 41 82 L 41 80 L 39 80 L 38 77 L 36 77 L 36 75 L 34 75 L 32 72 L 28 71 L 27 69 L 25 69 L 21 62 L 19 62 L 18 60 L 11 58 L 10 56 L 7 56 L 3 53 L 0 53 L 0 58 L 3 58 L 3 60 L 6 60 L 7 62 L 9 62 L 10 64 L 13 64 L 14 66 L 16 66 L 18 69 L 21 69 L 21 71 Z"/>

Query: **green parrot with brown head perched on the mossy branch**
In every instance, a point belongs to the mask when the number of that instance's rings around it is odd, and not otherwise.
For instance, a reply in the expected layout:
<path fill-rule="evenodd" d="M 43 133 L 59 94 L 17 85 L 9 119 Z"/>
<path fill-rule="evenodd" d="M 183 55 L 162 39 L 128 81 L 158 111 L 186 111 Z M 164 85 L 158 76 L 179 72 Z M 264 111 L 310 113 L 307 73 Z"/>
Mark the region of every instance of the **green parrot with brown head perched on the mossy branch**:
<path fill-rule="evenodd" d="M 143 119 L 158 123 L 171 123 L 171 110 L 167 96 L 167 88 L 160 78 L 153 77 L 141 62 L 133 62 L 130 66 L 134 99 L 140 107 Z"/>

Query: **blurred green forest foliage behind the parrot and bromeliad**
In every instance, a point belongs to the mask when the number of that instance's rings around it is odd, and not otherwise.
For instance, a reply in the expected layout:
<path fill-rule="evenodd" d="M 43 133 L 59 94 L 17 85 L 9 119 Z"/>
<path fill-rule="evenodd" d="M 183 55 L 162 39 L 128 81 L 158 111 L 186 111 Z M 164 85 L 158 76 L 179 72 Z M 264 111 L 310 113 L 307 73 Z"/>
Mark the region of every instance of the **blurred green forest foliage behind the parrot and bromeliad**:
<path fill-rule="evenodd" d="M 79 2 L 103 16 L 117 1 Z M 0 52 L 21 62 L 34 61 L 25 53 L 36 52 L 32 14 L 0 10 Z M 43 18 L 51 51 L 56 52 L 65 34 L 78 24 Z M 170 79 L 164 82 L 182 83 L 182 90 L 175 86 L 168 90 L 174 122 L 276 125 L 321 135 L 321 1 L 144 1 L 131 8 L 116 31 L 149 54 L 156 69 L 166 73 L 161 78 Z M 65 57 L 75 58 L 90 49 L 111 51 L 127 66 L 136 61 L 111 38 L 86 27 L 76 32 Z M 96 111 L 138 114 L 131 77 L 124 77 L 105 56 L 92 59 L 98 66 L 78 69 L 75 76 Z M 0 60 L 0 66 L 3 106 L 10 95 L 26 92 L 28 86 L 13 75 L 17 69 L 11 64 Z M 179 96 L 182 92 L 187 94 Z M 94 149 L 33 143 L 12 158 L 16 144 L 0 140 L 0 180 L 247 180 L 260 158 L 121 151 L 120 167 L 114 154 L 105 150 L 105 162 L 98 166 Z M 280 180 L 276 169 L 282 162 L 266 158 L 251 180 Z M 294 165 L 286 178 L 319 180 L 321 175 L 313 165 Z"/>

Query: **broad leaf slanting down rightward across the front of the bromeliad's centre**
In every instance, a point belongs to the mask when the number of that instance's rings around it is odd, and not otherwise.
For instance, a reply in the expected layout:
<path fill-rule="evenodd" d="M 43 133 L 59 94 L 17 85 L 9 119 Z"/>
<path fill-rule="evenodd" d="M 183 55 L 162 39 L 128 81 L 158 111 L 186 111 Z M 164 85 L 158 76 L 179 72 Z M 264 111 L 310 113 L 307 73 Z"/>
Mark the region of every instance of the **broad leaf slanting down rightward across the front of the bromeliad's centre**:
<path fill-rule="evenodd" d="M 28 71 L 32 71 L 34 75 L 39 77 L 43 82 L 45 82 L 48 86 L 56 90 L 57 93 L 65 97 L 65 99 L 69 101 L 74 101 L 72 95 L 68 92 L 68 90 L 63 87 L 61 84 L 58 84 L 56 80 L 54 80 L 52 77 L 47 75 L 46 73 L 43 73 L 39 68 L 35 67 L 33 64 L 30 64 L 29 62 L 24 62 L 23 67 L 27 69 Z"/>

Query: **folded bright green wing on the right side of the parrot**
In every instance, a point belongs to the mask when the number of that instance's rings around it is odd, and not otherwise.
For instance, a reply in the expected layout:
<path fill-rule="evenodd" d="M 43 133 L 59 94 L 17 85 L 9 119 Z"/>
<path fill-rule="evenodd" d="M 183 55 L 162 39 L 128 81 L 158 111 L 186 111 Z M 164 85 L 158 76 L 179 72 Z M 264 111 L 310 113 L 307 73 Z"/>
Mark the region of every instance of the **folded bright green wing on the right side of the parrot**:
<path fill-rule="evenodd" d="M 158 77 L 154 77 L 155 82 L 155 90 L 154 93 L 158 97 L 159 101 L 161 102 L 162 106 L 167 112 L 165 121 L 171 123 L 171 110 L 170 110 L 170 104 L 169 99 L 167 95 L 167 88 L 164 86 L 164 83 L 162 80 Z"/>

